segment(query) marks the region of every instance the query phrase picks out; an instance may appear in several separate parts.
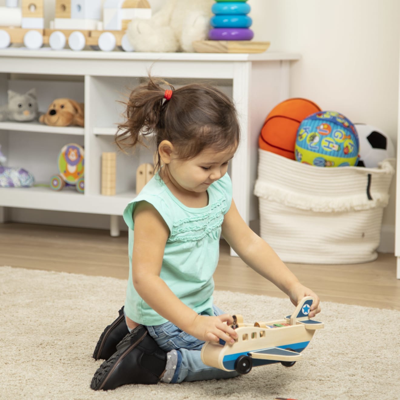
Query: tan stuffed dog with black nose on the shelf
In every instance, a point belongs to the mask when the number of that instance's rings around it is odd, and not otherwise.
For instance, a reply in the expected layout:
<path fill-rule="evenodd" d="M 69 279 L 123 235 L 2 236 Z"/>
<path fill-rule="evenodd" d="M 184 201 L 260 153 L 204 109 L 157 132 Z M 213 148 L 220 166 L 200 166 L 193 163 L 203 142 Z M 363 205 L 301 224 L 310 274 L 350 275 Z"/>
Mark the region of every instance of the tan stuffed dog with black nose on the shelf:
<path fill-rule="evenodd" d="M 84 126 L 84 105 L 68 98 L 56 99 L 39 122 L 52 126 Z"/>

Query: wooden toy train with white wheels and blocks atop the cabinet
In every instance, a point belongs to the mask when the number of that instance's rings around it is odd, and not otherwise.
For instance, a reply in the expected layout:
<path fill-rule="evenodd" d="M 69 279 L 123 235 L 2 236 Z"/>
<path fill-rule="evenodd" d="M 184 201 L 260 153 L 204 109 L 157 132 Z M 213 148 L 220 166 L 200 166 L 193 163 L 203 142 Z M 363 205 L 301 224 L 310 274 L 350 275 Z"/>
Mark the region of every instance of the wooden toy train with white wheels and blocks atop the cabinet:
<path fill-rule="evenodd" d="M 147 0 L 56 0 L 54 20 L 44 28 L 44 0 L 6 0 L 0 7 L 0 49 L 24 44 L 38 49 L 48 44 L 62 50 L 68 42 L 72 50 L 85 46 L 111 51 L 134 49 L 125 30 L 134 18 L 150 18 Z"/>

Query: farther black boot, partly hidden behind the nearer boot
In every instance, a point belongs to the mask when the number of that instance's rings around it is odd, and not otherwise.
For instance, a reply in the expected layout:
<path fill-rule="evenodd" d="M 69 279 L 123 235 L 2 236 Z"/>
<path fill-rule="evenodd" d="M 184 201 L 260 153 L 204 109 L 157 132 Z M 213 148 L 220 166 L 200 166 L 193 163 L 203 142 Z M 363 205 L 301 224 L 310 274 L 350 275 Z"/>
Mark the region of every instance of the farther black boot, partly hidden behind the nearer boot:
<path fill-rule="evenodd" d="M 124 317 L 124 307 L 118 311 L 119 317 L 104 329 L 93 352 L 95 360 L 108 360 L 115 352 L 117 344 L 129 333 Z"/>

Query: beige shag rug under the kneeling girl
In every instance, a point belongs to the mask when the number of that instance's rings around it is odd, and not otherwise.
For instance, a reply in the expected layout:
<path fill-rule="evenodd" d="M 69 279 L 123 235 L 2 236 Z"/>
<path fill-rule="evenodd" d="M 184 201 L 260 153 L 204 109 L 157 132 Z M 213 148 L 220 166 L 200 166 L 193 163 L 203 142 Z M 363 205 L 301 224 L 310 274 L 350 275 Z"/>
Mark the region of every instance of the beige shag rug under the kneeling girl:
<path fill-rule="evenodd" d="M 114 278 L 0 267 L 0 399 L 399 399 L 400 312 L 323 303 L 304 358 L 292 368 L 253 368 L 231 380 L 129 385 L 94 392 L 92 358 L 118 315 L 126 282 Z M 245 322 L 280 319 L 289 300 L 216 292 Z"/>

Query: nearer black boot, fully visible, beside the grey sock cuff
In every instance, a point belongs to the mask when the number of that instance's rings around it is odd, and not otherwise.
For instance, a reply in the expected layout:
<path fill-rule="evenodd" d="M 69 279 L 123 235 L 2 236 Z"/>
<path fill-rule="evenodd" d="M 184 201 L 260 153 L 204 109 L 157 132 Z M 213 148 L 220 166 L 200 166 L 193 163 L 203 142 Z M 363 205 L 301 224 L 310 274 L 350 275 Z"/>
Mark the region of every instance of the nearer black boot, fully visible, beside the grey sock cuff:
<path fill-rule="evenodd" d="M 93 376 L 93 390 L 110 390 L 128 384 L 156 384 L 165 370 L 167 354 L 139 325 L 118 344 Z"/>

